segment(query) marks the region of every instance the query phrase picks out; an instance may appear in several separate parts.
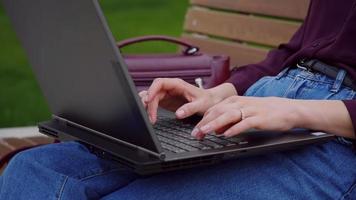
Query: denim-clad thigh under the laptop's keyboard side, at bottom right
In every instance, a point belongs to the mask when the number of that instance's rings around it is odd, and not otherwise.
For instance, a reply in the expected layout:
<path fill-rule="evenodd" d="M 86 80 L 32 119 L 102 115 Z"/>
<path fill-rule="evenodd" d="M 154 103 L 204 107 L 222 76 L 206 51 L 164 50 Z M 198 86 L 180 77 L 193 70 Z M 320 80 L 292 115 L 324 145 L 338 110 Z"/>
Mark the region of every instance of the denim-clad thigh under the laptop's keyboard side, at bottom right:
<path fill-rule="evenodd" d="M 350 148 L 332 141 L 137 179 L 103 199 L 340 199 L 355 167 Z"/>

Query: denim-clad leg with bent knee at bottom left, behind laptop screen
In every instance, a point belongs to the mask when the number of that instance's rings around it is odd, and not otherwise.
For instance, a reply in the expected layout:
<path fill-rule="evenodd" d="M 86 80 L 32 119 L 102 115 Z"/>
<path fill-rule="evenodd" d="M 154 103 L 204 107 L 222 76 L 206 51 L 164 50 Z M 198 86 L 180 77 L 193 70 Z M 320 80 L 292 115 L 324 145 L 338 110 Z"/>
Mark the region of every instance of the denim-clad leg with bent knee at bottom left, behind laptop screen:
<path fill-rule="evenodd" d="M 77 142 L 33 148 L 16 155 L 0 181 L 0 199 L 99 198 L 136 175 L 91 154 Z"/>

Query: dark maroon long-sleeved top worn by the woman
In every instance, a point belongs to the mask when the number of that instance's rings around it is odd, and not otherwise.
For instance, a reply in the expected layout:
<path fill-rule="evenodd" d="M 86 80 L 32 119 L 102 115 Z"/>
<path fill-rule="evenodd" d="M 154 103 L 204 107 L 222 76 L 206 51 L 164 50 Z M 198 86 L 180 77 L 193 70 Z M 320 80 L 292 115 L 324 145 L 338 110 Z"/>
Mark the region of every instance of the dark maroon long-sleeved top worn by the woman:
<path fill-rule="evenodd" d="M 261 77 L 275 76 L 302 58 L 338 66 L 356 79 L 356 1 L 311 0 L 303 25 L 288 44 L 271 50 L 260 63 L 235 68 L 227 82 L 244 94 Z M 356 100 L 344 103 L 356 129 Z"/>

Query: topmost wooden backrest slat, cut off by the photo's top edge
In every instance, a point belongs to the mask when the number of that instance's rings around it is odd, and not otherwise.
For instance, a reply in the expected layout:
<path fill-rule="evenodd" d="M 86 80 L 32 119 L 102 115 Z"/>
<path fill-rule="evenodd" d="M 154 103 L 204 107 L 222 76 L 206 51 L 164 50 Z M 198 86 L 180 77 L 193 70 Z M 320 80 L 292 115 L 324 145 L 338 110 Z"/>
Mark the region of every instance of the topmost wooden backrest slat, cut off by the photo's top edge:
<path fill-rule="evenodd" d="M 191 4 L 303 20 L 310 0 L 191 0 Z"/>

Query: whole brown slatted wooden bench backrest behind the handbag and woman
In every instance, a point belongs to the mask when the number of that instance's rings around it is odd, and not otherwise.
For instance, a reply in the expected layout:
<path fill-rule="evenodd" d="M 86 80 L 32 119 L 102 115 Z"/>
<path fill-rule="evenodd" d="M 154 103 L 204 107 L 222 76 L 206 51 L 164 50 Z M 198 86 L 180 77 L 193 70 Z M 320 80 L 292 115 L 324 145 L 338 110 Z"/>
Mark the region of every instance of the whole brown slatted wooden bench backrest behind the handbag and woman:
<path fill-rule="evenodd" d="M 190 0 L 183 39 L 206 53 L 231 57 L 231 66 L 257 63 L 289 41 L 309 0 Z"/>

